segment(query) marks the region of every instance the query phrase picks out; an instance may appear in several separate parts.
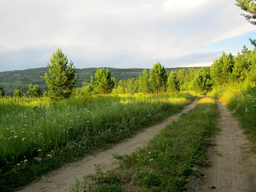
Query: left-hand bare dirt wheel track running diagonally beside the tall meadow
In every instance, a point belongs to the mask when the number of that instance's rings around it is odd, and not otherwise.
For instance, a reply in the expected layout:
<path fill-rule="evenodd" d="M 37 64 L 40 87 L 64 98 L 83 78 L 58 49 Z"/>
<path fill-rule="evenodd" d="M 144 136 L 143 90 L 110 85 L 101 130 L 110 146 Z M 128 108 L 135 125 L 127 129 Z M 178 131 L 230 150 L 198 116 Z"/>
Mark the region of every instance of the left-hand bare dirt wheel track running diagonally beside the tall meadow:
<path fill-rule="evenodd" d="M 136 148 L 146 147 L 150 138 L 156 135 L 157 132 L 162 130 L 167 124 L 176 120 L 178 116 L 187 113 L 190 109 L 194 108 L 198 100 L 195 100 L 188 105 L 182 112 L 177 115 L 165 119 L 160 124 L 149 127 L 144 132 L 138 133 L 131 139 L 119 142 L 113 148 L 94 153 L 83 157 L 81 160 L 73 163 L 66 164 L 56 170 L 49 172 L 41 177 L 40 180 L 32 181 L 30 184 L 23 186 L 19 192 L 63 192 L 69 191 L 69 187 L 73 186 L 77 180 L 82 180 L 86 174 L 94 173 L 94 164 L 100 166 L 103 170 L 110 170 L 116 166 L 112 162 L 115 160 L 112 154 L 129 154 Z"/>

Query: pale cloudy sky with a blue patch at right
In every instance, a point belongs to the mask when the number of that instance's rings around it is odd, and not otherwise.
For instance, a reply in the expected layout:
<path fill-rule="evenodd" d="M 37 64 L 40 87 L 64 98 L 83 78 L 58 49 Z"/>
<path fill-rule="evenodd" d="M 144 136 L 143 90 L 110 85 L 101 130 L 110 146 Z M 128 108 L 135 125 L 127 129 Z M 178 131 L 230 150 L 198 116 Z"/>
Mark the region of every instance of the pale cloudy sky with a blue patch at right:
<path fill-rule="evenodd" d="M 76 68 L 210 66 L 253 49 L 235 0 L 1 0 L 0 71 L 46 67 L 60 48 Z"/>

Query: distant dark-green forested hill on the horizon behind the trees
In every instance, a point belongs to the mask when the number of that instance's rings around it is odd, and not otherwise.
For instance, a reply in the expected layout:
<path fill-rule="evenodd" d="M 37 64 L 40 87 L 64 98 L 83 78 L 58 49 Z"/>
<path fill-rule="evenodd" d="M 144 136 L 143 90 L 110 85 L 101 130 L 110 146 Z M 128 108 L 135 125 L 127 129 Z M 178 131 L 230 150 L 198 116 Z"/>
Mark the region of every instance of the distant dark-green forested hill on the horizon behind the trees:
<path fill-rule="evenodd" d="M 107 67 L 106 67 L 107 68 Z M 169 73 L 172 70 L 185 69 L 189 67 L 177 67 L 177 68 L 165 68 Z M 194 67 L 199 69 L 200 67 Z M 138 77 L 143 68 L 108 68 L 111 71 L 111 76 L 118 80 L 126 80 L 131 77 Z M 97 68 L 76 68 L 76 76 L 79 77 L 78 85 L 82 86 L 84 84 L 90 83 L 91 76 L 94 76 Z M 149 69 L 147 69 L 149 71 Z M 11 93 L 14 89 L 20 89 L 22 92 L 28 90 L 28 84 L 37 84 L 44 92 L 47 90 L 47 85 L 45 84 L 44 73 L 48 72 L 47 67 L 43 68 L 32 68 L 25 70 L 13 70 L 0 72 L 0 83 L 3 85 L 5 92 Z M 80 82 L 80 83 L 79 83 Z"/>

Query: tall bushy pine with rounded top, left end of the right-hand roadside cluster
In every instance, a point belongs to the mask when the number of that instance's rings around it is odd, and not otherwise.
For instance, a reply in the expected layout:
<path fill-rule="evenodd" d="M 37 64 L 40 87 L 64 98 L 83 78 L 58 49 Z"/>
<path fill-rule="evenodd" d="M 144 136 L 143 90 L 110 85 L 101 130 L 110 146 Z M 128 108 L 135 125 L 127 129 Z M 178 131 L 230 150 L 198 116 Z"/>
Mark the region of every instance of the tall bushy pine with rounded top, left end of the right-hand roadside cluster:
<path fill-rule="evenodd" d="M 216 84 L 226 84 L 228 83 L 233 67 L 233 55 L 231 53 L 227 55 L 225 52 L 223 52 L 220 58 L 214 60 L 211 66 L 211 78 Z"/>

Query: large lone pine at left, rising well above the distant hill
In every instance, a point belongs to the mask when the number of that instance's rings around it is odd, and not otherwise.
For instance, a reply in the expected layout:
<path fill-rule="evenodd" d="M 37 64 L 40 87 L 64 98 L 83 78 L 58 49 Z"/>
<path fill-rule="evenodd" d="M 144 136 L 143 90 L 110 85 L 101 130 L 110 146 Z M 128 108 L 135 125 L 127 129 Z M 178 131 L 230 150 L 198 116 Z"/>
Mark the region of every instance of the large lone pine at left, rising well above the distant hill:
<path fill-rule="evenodd" d="M 48 95 L 51 99 L 69 98 L 76 87 L 77 79 L 75 78 L 75 67 L 71 61 L 68 65 L 67 55 L 57 49 L 50 58 L 51 64 L 47 63 L 49 74 L 45 72 L 44 78 L 48 85 Z"/>

